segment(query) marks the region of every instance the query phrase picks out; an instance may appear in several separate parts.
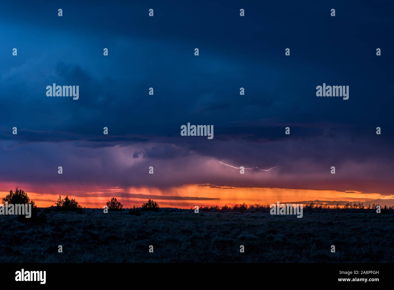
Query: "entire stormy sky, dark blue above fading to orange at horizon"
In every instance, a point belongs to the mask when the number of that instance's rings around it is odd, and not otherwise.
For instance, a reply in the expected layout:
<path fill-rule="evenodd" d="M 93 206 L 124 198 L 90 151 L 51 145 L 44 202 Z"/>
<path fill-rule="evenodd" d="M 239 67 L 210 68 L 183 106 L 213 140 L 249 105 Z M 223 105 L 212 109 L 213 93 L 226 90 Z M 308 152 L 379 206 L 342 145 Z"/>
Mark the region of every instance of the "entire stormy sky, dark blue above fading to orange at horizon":
<path fill-rule="evenodd" d="M 112 196 L 125 207 L 149 198 L 184 208 L 394 205 L 393 9 L 390 1 L 4 3 L 0 195 L 18 186 L 38 206 L 58 195 L 86 207 Z M 53 83 L 79 86 L 79 99 L 48 97 Z M 349 86 L 349 99 L 317 97 L 323 83 Z M 214 138 L 181 136 L 187 123 L 213 125 Z M 222 163 L 276 167 L 240 174 Z"/>

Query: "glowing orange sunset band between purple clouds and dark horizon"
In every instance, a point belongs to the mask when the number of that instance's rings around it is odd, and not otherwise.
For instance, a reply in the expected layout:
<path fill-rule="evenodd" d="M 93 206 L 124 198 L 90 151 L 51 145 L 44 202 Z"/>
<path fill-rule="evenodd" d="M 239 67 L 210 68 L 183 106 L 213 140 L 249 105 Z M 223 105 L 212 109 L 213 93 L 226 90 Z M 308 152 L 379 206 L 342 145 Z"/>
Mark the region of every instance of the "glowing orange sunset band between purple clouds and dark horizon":
<path fill-rule="evenodd" d="M 13 190 L 15 186 L 13 187 Z M 24 190 L 23 187 L 19 189 Z M 33 199 L 37 206 L 46 207 L 55 205 L 58 193 L 37 193 L 25 190 L 30 199 Z M 119 193 L 120 192 L 120 193 Z M 0 191 L 0 197 L 5 197 L 9 191 Z M 153 199 L 161 207 L 191 208 L 198 206 L 232 206 L 234 204 L 271 204 L 277 203 L 303 203 L 314 201 L 316 205 L 328 203 L 330 208 L 335 206 L 336 201 L 357 201 L 364 202 L 367 207 L 376 199 L 387 199 L 387 205 L 394 205 L 393 196 L 382 196 L 379 193 L 361 193 L 360 191 L 335 191 L 335 190 L 300 190 L 285 188 L 225 188 L 199 186 L 198 184 L 188 184 L 169 189 L 159 188 L 112 188 L 112 189 L 93 189 L 87 191 L 69 191 L 62 194 L 64 198 L 68 194 L 70 199 L 76 199 L 82 207 L 103 208 L 107 201 L 116 197 L 123 204 L 124 208 L 132 207 L 133 204 L 141 206 L 142 203 Z M 130 195 L 129 195 L 130 194 Z M 136 196 L 136 195 L 143 196 Z M 189 197 L 189 198 L 188 198 Z M 202 199 L 196 199 L 202 198 Z M 206 199 L 208 198 L 208 199 Z M 373 202 L 371 202 L 372 204 Z M 376 203 L 376 202 L 375 202 Z M 379 202 L 384 204 L 383 202 Z"/>

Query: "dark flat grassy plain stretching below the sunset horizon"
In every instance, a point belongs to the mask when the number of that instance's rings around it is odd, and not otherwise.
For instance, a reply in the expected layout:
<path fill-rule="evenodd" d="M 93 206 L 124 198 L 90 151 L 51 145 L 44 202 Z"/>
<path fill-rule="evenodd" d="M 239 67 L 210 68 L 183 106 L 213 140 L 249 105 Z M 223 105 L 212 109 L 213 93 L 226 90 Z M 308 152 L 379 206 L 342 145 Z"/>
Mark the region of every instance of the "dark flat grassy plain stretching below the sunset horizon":
<path fill-rule="evenodd" d="M 2 262 L 394 262 L 393 214 L 100 210 L 47 217 L 35 225 L 0 216 Z"/>

